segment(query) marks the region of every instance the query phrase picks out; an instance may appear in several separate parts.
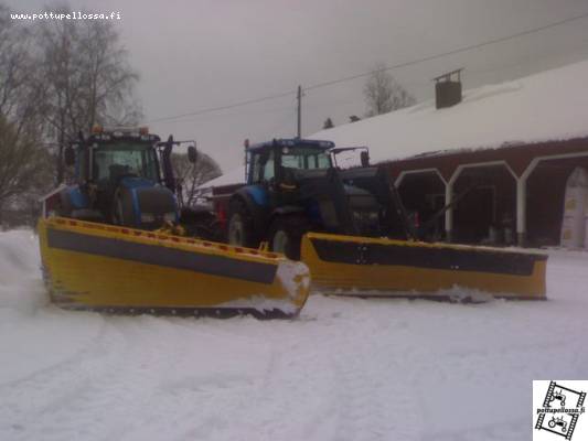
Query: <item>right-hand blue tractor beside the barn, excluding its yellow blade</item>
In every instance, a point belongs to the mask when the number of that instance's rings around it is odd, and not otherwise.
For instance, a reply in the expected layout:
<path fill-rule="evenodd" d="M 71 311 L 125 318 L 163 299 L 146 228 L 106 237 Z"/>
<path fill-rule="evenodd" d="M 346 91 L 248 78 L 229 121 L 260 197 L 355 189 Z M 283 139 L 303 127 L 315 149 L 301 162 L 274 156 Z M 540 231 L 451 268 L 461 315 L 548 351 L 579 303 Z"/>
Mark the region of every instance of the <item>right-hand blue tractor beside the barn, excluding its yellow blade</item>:
<path fill-rule="evenodd" d="M 340 170 L 330 141 L 276 139 L 246 147 L 247 184 L 233 193 L 227 209 L 232 245 L 258 247 L 300 258 L 307 232 L 408 238 L 414 229 L 388 174 L 370 166 Z"/>

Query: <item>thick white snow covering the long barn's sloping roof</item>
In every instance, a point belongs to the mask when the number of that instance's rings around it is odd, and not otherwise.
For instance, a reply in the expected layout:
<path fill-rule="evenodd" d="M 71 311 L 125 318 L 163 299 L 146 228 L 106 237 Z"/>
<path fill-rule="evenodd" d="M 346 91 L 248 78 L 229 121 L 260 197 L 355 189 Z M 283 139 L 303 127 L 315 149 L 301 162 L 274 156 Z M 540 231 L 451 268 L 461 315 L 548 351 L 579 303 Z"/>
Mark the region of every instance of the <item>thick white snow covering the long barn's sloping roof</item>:
<path fill-rule="evenodd" d="M 309 138 L 367 146 L 373 162 L 427 152 L 496 148 L 588 136 L 588 61 L 514 82 L 466 90 L 462 103 L 434 101 L 321 130 Z M 434 87 L 431 83 L 431 87 Z"/>

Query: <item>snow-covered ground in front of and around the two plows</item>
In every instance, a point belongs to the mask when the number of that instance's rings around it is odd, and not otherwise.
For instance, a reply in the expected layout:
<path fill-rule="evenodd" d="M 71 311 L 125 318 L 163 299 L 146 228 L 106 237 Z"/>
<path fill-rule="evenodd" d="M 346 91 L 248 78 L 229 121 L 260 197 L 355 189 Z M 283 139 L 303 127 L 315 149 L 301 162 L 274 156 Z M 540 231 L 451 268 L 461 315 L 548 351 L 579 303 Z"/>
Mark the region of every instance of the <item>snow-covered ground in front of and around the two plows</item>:
<path fill-rule="evenodd" d="M 530 440 L 532 380 L 588 379 L 588 255 L 547 302 L 313 295 L 295 321 L 47 305 L 0 233 L 1 440 Z"/>

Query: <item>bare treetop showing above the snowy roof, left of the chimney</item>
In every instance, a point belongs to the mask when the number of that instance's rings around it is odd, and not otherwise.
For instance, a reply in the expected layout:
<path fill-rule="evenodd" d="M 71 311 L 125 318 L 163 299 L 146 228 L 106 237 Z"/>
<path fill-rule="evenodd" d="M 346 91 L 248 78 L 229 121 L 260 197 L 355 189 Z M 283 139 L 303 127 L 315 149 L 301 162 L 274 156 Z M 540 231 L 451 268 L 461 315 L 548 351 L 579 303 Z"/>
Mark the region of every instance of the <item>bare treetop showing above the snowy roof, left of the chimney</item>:
<path fill-rule="evenodd" d="M 378 63 L 363 87 L 367 105 L 367 117 L 387 114 L 411 106 L 416 99 L 386 72 L 386 65 Z"/>

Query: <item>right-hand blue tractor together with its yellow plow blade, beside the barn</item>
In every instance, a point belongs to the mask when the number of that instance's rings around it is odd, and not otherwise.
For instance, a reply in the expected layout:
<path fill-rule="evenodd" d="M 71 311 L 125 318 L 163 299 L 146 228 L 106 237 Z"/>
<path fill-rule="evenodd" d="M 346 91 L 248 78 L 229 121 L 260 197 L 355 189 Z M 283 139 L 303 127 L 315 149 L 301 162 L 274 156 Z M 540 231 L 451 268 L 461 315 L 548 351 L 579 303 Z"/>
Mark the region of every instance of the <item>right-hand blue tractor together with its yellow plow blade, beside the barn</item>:
<path fill-rule="evenodd" d="M 443 290 L 462 287 L 545 298 L 546 255 L 425 241 L 366 148 L 359 148 L 361 168 L 336 168 L 335 155 L 354 149 L 303 139 L 246 144 L 247 184 L 215 196 L 227 241 L 267 243 L 303 261 L 322 292 L 448 297 Z"/>

